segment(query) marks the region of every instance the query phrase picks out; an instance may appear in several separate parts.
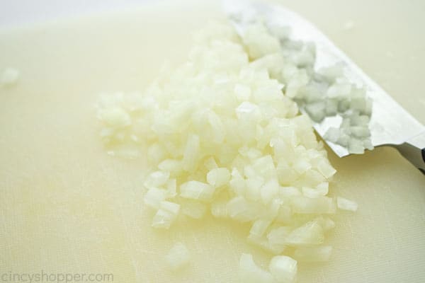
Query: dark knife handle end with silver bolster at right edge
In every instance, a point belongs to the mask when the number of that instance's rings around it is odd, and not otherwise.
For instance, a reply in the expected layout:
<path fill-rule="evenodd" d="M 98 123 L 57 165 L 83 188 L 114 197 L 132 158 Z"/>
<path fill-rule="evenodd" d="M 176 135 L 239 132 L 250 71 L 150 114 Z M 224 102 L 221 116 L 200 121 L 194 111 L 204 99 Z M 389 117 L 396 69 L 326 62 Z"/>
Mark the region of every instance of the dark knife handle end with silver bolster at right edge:
<path fill-rule="evenodd" d="M 404 144 L 395 146 L 400 154 L 410 161 L 425 175 L 425 131 L 409 139 Z"/>

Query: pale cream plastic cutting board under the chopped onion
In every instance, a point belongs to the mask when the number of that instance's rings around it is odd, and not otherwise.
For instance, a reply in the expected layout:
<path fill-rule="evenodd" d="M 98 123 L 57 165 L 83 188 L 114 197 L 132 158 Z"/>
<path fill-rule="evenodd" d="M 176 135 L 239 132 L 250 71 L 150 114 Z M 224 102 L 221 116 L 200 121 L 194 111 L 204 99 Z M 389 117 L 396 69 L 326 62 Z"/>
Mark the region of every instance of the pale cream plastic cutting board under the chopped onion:
<path fill-rule="evenodd" d="M 132 11 L 0 31 L 0 69 L 21 78 L 0 88 L 0 272 L 112 273 L 114 282 L 238 282 L 249 226 L 183 221 L 150 227 L 147 164 L 108 156 L 98 137 L 99 93 L 141 91 L 164 59 L 186 59 L 191 33 L 224 17 L 217 1 L 161 1 Z M 421 1 L 281 1 L 316 23 L 425 123 Z M 319 3 L 320 2 L 320 3 Z M 425 282 L 425 177 L 394 149 L 339 159 L 331 194 L 356 200 L 327 236 L 330 262 L 299 265 L 299 282 Z M 176 241 L 192 254 L 172 274 Z"/>

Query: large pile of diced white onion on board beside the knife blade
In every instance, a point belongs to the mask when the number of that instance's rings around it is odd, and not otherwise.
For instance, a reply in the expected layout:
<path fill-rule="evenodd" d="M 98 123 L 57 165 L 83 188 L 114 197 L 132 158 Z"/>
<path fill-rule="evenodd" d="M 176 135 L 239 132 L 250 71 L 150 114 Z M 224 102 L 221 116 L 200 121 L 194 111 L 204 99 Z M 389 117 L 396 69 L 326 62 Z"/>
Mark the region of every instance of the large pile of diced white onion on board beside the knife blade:
<path fill-rule="evenodd" d="M 251 226 L 247 241 L 276 255 L 268 271 L 242 255 L 244 282 L 293 282 L 296 260 L 329 259 L 329 215 L 353 210 L 328 196 L 336 171 L 310 118 L 290 99 L 309 75 L 276 53 L 279 44 L 261 25 L 244 42 L 229 25 L 210 25 L 196 36 L 188 61 L 165 69 L 146 93 L 98 103 L 110 154 L 135 158 L 147 146 L 152 172 L 144 201 L 156 212 L 154 228 L 212 214 Z M 296 52 L 299 64 L 314 62 L 311 50 Z M 276 76 L 291 79 L 284 85 Z M 169 261 L 186 262 L 186 255 L 175 256 L 184 249 L 176 250 Z"/>

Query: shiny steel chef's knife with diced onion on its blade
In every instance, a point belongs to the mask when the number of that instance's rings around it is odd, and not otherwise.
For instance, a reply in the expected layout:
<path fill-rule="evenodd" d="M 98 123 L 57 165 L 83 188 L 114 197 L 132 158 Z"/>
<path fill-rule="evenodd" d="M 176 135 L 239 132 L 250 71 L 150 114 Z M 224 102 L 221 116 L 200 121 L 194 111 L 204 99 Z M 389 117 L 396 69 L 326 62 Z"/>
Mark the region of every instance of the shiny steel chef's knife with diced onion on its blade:
<path fill-rule="evenodd" d="M 316 47 L 314 70 L 343 64 L 344 77 L 351 83 L 360 83 L 365 87 L 367 96 L 373 101 L 368 124 L 373 146 L 395 147 L 404 158 L 425 174 L 424 125 L 404 110 L 312 23 L 278 5 L 234 0 L 224 1 L 223 4 L 229 21 L 241 37 L 249 19 L 261 17 L 267 26 L 289 27 L 290 40 L 313 42 Z M 300 111 L 306 112 L 302 105 Z M 336 114 L 319 122 L 313 121 L 313 127 L 337 156 L 344 157 L 350 155 L 347 147 L 329 141 L 325 135 L 330 127 L 334 127 L 341 120 L 341 114 Z"/>

